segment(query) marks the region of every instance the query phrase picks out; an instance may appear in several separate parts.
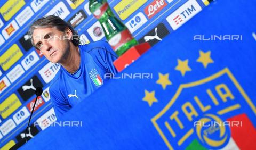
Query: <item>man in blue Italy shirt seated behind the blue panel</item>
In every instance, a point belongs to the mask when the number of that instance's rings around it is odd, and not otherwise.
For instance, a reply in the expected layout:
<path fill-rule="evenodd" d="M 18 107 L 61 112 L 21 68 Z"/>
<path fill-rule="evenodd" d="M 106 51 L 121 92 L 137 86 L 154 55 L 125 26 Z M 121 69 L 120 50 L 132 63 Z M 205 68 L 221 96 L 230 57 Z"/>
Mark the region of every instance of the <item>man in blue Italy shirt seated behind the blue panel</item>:
<path fill-rule="evenodd" d="M 29 29 L 31 43 L 47 60 L 61 64 L 50 84 L 50 96 L 57 118 L 101 87 L 105 73 L 117 73 L 117 55 L 106 41 L 78 45 L 73 27 L 58 16 L 36 20 Z"/>

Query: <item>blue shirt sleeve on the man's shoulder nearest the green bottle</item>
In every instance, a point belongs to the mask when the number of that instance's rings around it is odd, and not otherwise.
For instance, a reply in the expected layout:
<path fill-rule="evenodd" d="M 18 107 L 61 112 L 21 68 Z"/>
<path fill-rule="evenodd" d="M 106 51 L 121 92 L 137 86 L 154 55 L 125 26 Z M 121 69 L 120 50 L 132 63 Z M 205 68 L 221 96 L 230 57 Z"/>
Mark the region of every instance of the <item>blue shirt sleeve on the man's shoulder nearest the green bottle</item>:
<path fill-rule="evenodd" d="M 117 70 L 113 62 L 118 58 L 107 41 L 99 40 L 88 45 L 89 53 L 93 60 L 98 61 L 99 65 L 106 69 L 107 72 L 116 74 Z"/>

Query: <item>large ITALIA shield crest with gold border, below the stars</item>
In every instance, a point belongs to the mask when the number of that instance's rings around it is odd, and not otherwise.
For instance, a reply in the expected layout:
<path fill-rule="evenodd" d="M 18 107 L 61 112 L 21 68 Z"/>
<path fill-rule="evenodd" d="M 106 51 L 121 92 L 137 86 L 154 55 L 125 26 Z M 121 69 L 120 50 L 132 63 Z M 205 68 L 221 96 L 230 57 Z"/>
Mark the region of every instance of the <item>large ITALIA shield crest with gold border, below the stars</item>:
<path fill-rule="evenodd" d="M 255 115 L 255 105 L 225 68 L 210 77 L 181 84 L 151 122 L 169 149 L 243 149 L 238 145 L 242 140 L 239 135 L 246 132 L 247 129 L 243 130 L 245 126 L 252 127 L 250 131 L 255 137 L 256 130 L 250 121 Z M 226 124 L 234 121 L 243 124 L 237 128 Z M 204 125 L 195 126 L 194 122 Z"/>

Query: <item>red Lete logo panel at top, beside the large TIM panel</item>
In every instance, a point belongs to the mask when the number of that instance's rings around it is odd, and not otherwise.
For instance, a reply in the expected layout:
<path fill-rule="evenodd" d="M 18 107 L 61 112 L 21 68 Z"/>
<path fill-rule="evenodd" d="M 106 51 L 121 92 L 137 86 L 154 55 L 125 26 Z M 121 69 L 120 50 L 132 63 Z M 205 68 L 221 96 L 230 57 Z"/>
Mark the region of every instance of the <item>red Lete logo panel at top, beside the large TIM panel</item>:
<path fill-rule="evenodd" d="M 144 11 L 150 19 L 159 11 L 161 11 L 166 5 L 167 3 L 164 0 L 155 0 L 150 5 L 148 5 Z"/>

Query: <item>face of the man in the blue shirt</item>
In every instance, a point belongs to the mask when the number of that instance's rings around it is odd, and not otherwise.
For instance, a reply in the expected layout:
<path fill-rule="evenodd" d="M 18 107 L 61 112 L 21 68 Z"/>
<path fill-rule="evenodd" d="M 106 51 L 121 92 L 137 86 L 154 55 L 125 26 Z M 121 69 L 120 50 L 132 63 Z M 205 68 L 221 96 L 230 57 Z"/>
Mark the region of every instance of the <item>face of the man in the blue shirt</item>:
<path fill-rule="evenodd" d="M 34 44 L 52 63 L 60 63 L 69 53 L 68 33 L 52 28 L 36 28 L 33 32 Z"/>

